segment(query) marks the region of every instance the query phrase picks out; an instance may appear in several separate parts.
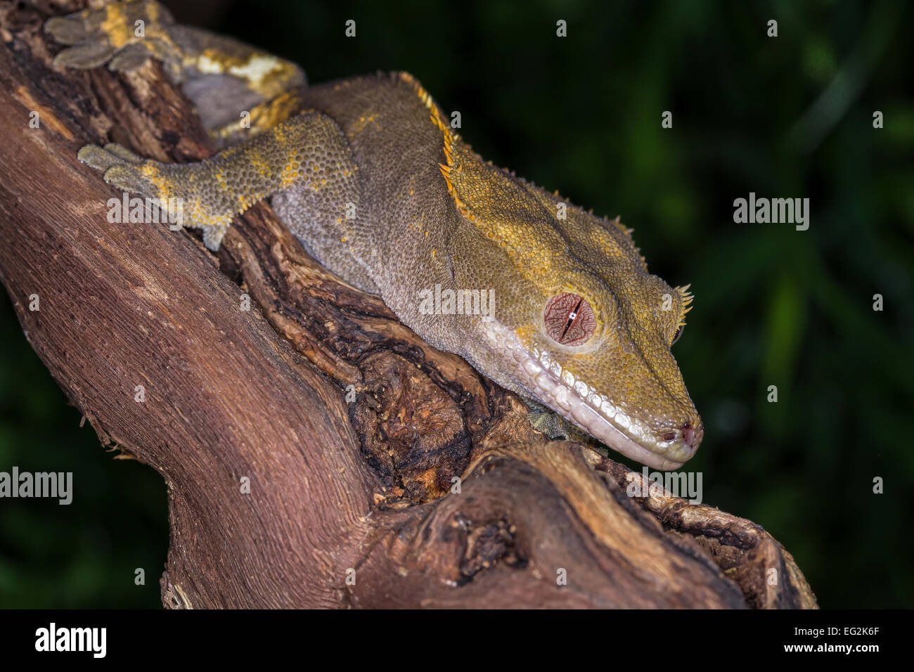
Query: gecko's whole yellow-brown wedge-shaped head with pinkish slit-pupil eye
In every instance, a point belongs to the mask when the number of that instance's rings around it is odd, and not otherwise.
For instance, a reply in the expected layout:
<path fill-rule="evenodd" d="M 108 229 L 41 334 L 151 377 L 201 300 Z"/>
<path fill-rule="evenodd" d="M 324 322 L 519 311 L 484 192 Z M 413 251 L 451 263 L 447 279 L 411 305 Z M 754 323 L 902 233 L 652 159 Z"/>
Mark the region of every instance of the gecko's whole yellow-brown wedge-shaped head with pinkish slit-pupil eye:
<path fill-rule="evenodd" d="M 633 460 L 684 464 L 704 435 L 670 349 L 690 310 L 687 287 L 650 274 L 618 218 L 570 206 L 465 145 L 448 157 L 442 172 L 468 252 L 455 281 L 495 291 L 493 315 L 477 326 L 483 345 L 468 338 L 468 358 Z"/>

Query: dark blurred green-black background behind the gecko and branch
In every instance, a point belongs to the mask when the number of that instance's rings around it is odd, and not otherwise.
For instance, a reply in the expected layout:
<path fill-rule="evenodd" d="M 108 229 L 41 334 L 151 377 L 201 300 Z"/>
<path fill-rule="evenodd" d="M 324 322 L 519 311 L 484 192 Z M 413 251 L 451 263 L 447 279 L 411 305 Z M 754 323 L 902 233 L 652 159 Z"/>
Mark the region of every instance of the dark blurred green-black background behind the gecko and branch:
<path fill-rule="evenodd" d="M 769 530 L 823 607 L 914 603 L 910 5 L 166 4 L 313 82 L 408 70 L 484 157 L 621 214 L 696 295 L 674 352 L 706 423 L 687 465 L 704 501 Z M 734 223 L 750 191 L 809 197 L 810 229 Z M 0 500 L 0 606 L 158 607 L 165 485 L 79 425 L 4 293 L 0 470 L 72 471 L 75 496 Z"/>

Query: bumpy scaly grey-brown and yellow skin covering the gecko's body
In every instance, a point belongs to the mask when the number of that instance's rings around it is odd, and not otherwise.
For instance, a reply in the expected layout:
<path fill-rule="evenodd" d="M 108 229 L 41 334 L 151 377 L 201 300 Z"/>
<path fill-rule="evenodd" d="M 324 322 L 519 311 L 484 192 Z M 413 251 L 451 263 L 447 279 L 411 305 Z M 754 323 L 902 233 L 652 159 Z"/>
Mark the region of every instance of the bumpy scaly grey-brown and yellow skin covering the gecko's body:
<path fill-rule="evenodd" d="M 129 5 L 121 15 L 144 9 L 150 16 L 154 3 Z M 124 41 L 112 40 L 117 28 L 87 16 L 49 29 L 66 32 L 69 44 L 77 37 L 105 48 Z M 168 58 L 183 64 L 182 78 L 194 80 L 200 39 L 175 40 L 168 37 L 173 29 L 155 29 L 166 44 L 180 42 L 177 57 Z M 255 59 L 243 49 L 224 62 Z M 118 49 L 109 51 L 116 59 Z M 161 51 L 151 53 L 161 58 Z M 97 58 L 67 51 L 58 59 L 72 67 L 98 65 Z M 294 71 L 282 62 L 275 69 Z M 249 78 L 250 69 L 236 68 L 235 75 Z M 277 125 L 252 129 L 252 138 L 199 164 L 145 161 L 118 145 L 84 147 L 80 159 L 123 189 L 182 198 L 186 225 L 204 229 L 210 249 L 218 248 L 235 214 L 272 196 L 308 251 L 347 282 L 380 293 L 432 345 L 460 354 L 505 388 L 643 464 L 669 469 L 692 456 L 702 424 L 670 353 L 691 296 L 647 272 L 618 219 L 596 218 L 485 163 L 406 73 L 312 88 L 302 81 L 292 77 L 286 92 L 261 92 L 258 118 Z M 241 83 L 263 88 L 262 78 Z M 218 95 L 218 87 L 208 91 Z M 266 104 L 274 100 L 275 113 Z M 291 116 L 300 109 L 305 112 Z M 215 123 L 210 128 L 240 139 Z M 423 291 L 434 293 L 436 285 L 494 290 L 491 319 L 429 314 Z M 547 304 L 566 293 L 578 297 L 572 304 L 590 306 L 585 337 L 574 346 L 559 343 L 544 323 Z"/>

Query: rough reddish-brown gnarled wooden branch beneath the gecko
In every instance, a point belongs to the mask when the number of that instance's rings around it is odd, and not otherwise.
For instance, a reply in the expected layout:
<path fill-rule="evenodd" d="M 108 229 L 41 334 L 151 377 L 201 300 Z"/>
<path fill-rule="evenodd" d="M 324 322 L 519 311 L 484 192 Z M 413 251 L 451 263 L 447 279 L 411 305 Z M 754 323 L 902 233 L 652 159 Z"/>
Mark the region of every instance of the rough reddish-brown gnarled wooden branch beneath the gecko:
<path fill-rule="evenodd" d="M 178 162 L 211 145 L 157 64 L 52 67 L 41 25 L 73 8 L 0 2 L 0 279 L 101 442 L 163 475 L 165 606 L 815 606 L 762 528 L 626 495 L 641 475 L 534 432 L 513 394 L 325 271 L 266 205 L 218 258 L 191 233 L 109 223 L 120 195 L 82 144 Z"/>

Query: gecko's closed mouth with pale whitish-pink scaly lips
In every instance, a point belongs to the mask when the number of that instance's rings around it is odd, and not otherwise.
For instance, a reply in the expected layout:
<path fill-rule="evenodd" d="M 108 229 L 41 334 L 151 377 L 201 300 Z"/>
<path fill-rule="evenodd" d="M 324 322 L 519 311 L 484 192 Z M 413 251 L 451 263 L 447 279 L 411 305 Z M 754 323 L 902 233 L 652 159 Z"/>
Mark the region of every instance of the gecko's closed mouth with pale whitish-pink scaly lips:
<path fill-rule="evenodd" d="M 531 355 L 504 327 L 488 325 L 487 336 L 502 352 L 510 353 L 515 378 L 527 393 L 617 453 L 654 469 L 678 469 L 695 454 L 702 430 L 657 432 L 626 414 L 605 395 L 575 380 L 547 353 Z"/>

